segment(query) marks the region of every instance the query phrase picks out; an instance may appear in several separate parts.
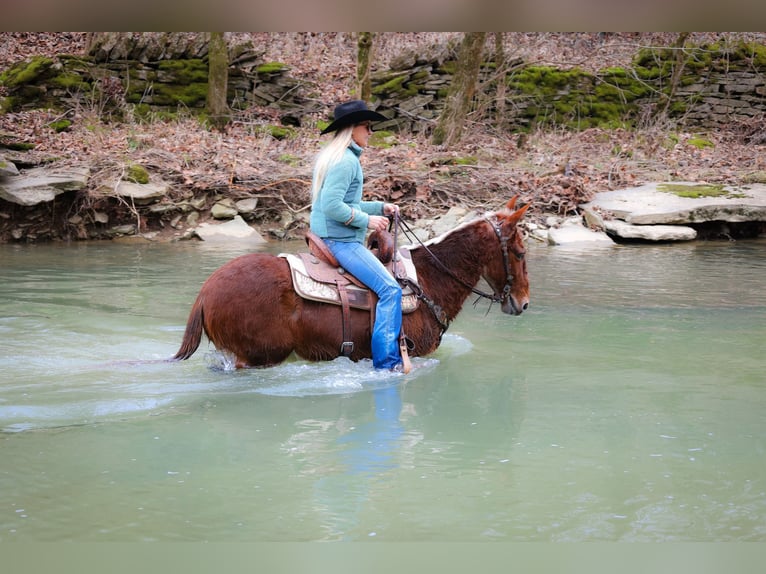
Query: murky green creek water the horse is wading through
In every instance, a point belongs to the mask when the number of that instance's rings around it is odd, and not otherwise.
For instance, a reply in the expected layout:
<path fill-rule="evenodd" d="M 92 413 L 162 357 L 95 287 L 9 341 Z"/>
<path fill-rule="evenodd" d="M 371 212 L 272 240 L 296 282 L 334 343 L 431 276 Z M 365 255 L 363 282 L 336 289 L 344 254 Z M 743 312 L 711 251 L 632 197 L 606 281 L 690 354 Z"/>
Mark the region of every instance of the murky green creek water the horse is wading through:
<path fill-rule="evenodd" d="M 764 241 L 531 245 L 407 377 L 162 362 L 241 253 L 0 246 L 0 541 L 766 540 Z"/>

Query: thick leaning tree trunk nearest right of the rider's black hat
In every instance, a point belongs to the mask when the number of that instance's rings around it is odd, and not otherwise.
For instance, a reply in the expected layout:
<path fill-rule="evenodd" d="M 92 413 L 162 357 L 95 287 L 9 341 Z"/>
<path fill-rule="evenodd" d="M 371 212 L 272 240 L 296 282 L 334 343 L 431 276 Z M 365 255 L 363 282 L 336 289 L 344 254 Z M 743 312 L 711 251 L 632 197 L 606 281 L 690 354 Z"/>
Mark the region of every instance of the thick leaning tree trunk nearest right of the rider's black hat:
<path fill-rule="evenodd" d="M 476 94 L 486 36 L 486 32 L 466 32 L 463 36 L 444 110 L 431 137 L 434 145 L 453 145 L 460 141 L 463 125 Z"/>

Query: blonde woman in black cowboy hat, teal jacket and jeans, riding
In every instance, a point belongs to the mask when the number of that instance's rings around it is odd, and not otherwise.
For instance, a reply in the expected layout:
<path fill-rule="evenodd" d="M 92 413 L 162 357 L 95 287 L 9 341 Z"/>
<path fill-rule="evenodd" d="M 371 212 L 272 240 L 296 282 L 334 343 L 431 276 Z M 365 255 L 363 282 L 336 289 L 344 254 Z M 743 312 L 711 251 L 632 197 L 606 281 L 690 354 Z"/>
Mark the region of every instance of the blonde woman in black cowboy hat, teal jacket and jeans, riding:
<path fill-rule="evenodd" d="M 399 331 L 402 326 L 402 289 L 378 258 L 364 245 L 367 230 L 384 230 L 387 215 L 398 206 L 363 201 L 362 164 L 371 122 L 385 120 L 362 100 L 335 108 L 334 121 L 322 134 L 335 132 L 314 164 L 311 231 L 324 239 L 338 263 L 378 296 L 372 330 L 372 364 L 377 369 L 402 370 Z"/>

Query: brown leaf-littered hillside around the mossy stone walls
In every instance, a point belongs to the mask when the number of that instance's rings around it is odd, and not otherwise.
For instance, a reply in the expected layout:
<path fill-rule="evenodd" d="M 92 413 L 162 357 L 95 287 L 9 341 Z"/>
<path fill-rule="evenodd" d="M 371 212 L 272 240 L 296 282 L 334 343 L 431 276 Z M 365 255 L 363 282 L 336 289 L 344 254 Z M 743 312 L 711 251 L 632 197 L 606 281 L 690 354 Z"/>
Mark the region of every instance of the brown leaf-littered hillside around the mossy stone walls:
<path fill-rule="evenodd" d="M 720 36 L 695 33 L 692 41 Z M 760 33 L 736 36 L 766 40 L 766 34 Z M 450 37 L 460 34 L 380 35 L 374 67 L 385 69 L 404 50 Z M 598 70 L 625 65 L 640 46 L 671 45 L 674 37 L 672 33 L 514 32 L 506 34 L 505 47 L 525 61 Z M 335 102 L 349 97 L 355 54 L 350 34 L 253 33 L 248 38 L 263 52 L 264 61 L 284 62 L 292 75 L 323 86 L 321 103 L 328 113 Z M 2 33 L 0 71 L 29 55 L 83 53 L 85 43 L 83 33 Z M 275 121 L 266 109 L 238 113 L 225 133 L 203 129 L 191 114 L 180 114 L 173 121 L 134 119 L 107 124 L 96 108 L 68 110 L 73 125 L 57 133 L 49 124 L 60 115 L 46 110 L 0 115 L 0 143 L 34 143 L 32 153 L 41 158 L 91 167 L 91 189 L 68 207 L 67 217 L 108 209 L 111 221 L 134 220 L 135 207 L 110 203 L 104 188 L 126 163 L 137 163 L 171 182 L 178 199 L 201 194 L 258 197 L 257 224 L 273 229 L 287 218 L 288 233 L 300 231 L 307 211 L 311 161 L 322 141 L 311 118 L 297 137 L 276 140 L 261 129 Z M 638 131 L 516 134 L 499 133 L 476 121 L 459 146 L 450 149 L 432 146 L 423 135 L 408 134 L 369 149 L 364 155 L 366 187 L 372 197 L 399 202 L 404 215 L 412 219 L 443 213 L 453 205 L 497 207 L 519 193 L 522 201 L 533 204 L 532 215 L 542 221 L 551 214 L 575 214 L 578 203 L 595 192 L 649 181 L 762 181 L 766 179 L 764 142 L 752 137 L 763 131 L 763 118 L 759 122 L 702 134 L 686 133 L 660 120 L 648 120 Z M 459 161 L 467 157 L 475 163 Z M 20 219 L 32 228 L 27 236 L 71 237 L 65 220 L 61 229 L 46 233 L 45 215 L 39 209 L 0 205 L 0 241 L 8 240 Z M 147 219 L 145 226 L 152 225 L 156 222 Z M 179 233 L 169 227 L 160 231 Z"/>

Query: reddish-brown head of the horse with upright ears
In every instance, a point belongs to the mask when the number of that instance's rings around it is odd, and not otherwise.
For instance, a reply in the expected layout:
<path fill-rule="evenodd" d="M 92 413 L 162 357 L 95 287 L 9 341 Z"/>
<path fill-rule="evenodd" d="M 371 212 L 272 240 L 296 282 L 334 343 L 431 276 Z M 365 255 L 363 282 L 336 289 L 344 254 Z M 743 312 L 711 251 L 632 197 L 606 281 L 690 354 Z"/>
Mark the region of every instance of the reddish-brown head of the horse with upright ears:
<path fill-rule="evenodd" d="M 514 210 L 513 197 L 503 209 L 487 218 L 499 242 L 497 257 L 491 257 L 482 277 L 500 299 L 500 308 L 509 315 L 521 315 L 529 307 L 529 277 L 525 259 L 523 233 L 516 224 L 529 208 L 529 204 Z"/>

